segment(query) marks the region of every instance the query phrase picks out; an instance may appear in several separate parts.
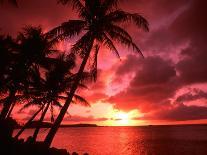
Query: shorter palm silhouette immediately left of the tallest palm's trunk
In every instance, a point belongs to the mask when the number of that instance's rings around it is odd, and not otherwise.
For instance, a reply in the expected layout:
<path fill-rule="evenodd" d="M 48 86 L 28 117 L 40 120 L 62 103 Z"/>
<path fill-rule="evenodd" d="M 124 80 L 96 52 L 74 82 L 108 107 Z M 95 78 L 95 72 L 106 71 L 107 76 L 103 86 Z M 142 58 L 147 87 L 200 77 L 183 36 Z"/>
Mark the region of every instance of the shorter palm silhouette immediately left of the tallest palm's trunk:
<path fill-rule="evenodd" d="M 39 125 L 34 131 L 33 140 L 35 141 L 39 133 L 41 123 L 44 120 L 46 112 L 50 107 L 51 111 L 51 122 L 54 122 L 53 107 L 62 107 L 60 100 L 64 101 L 66 99 L 67 93 L 70 91 L 70 87 L 73 82 L 73 74 L 70 70 L 74 67 L 74 57 L 69 56 L 65 60 L 64 55 L 60 55 L 57 59 L 56 64 L 48 71 L 46 74 L 46 79 L 42 80 L 43 89 L 42 97 L 40 100 L 45 104 L 45 109 L 39 119 Z M 74 101 L 82 103 L 88 106 L 89 103 L 79 95 L 74 95 Z"/>

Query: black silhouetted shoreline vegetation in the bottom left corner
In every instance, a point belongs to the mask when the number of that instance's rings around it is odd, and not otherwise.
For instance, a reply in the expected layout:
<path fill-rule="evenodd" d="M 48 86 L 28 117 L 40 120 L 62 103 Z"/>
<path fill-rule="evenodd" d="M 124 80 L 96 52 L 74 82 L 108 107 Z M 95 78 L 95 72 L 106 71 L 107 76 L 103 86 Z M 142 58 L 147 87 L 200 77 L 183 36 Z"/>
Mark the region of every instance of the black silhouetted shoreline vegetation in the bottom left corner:
<path fill-rule="evenodd" d="M 66 149 L 48 148 L 43 142 L 35 142 L 32 137 L 27 140 L 13 138 L 13 130 L 19 125 L 12 118 L 1 121 L 0 126 L 0 155 L 78 155 Z"/>

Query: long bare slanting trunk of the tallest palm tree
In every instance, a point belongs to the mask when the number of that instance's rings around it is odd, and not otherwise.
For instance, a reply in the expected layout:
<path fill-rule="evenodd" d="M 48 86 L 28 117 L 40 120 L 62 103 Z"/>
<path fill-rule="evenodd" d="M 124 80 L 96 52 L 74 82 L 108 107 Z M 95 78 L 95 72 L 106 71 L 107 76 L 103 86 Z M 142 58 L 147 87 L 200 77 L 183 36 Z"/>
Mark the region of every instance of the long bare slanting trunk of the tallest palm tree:
<path fill-rule="evenodd" d="M 57 130 L 58 130 L 58 128 L 59 128 L 59 126 L 60 126 L 60 124 L 61 124 L 61 122 L 62 122 L 62 120 L 63 120 L 63 118 L 64 118 L 64 116 L 66 114 L 66 112 L 67 112 L 67 110 L 68 110 L 68 107 L 70 106 L 70 103 L 71 103 L 71 101 L 73 99 L 75 91 L 78 88 L 78 85 L 79 85 L 79 82 L 81 80 L 84 68 L 86 66 L 86 63 L 87 63 L 88 58 L 90 56 L 90 52 L 91 52 L 92 47 L 93 47 L 93 42 L 94 42 L 94 40 L 92 39 L 90 45 L 85 50 L 86 54 L 85 54 L 85 56 L 83 58 L 82 64 L 81 64 L 81 66 L 79 68 L 79 71 L 77 73 L 77 78 L 76 78 L 74 84 L 71 87 L 71 90 L 70 90 L 70 93 L 68 95 L 68 98 L 67 98 L 67 100 L 66 100 L 64 106 L 62 107 L 62 109 L 61 109 L 57 119 L 55 120 L 53 126 L 51 127 L 49 133 L 47 134 L 47 136 L 46 136 L 46 138 L 44 140 L 45 145 L 48 146 L 48 147 L 50 147 L 50 145 L 52 143 L 52 140 L 55 137 L 55 134 L 56 134 L 56 132 L 57 132 Z"/>

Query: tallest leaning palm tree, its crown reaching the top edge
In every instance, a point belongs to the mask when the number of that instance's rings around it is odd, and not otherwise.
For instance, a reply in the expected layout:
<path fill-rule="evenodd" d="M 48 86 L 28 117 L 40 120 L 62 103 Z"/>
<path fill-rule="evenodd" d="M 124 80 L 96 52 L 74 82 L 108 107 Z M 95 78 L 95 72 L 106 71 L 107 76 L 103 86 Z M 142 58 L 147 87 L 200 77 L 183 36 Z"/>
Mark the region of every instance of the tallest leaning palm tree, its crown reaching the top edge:
<path fill-rule="evenodd" d="M 119 56 L 114 41 L 132 47 L 142 55 L 140 49 L 133 42 L 128 32 L 120 26 L 121 23 L 134 22 L 138 28 L 148 31 L 147 20 L 138 13 L 128 13 L 118 9 L 119 0 L 59 0 L 63 4 L 72 3 L 73 8 L 78 11 L 80 20 L 69 20 L 50 31 L 49 35 L 56 36 L 62 40 L 81 35 L 81 38 L 73 45 L 71 51 L 82 58 L 76 81 L 71 87 L 68 98 L 61 109 L 54 125 L 45 138 L 45 144 L 49 147 L 60 126 L 65 113 L 72 101 L 78 84 L 81 80 L 87 61 L 92 57 L 91 71 L 96 75 L 97 55 L 99 48 L 103 45 Z M 96 79 L 96 76 L 94 76 Z"/>

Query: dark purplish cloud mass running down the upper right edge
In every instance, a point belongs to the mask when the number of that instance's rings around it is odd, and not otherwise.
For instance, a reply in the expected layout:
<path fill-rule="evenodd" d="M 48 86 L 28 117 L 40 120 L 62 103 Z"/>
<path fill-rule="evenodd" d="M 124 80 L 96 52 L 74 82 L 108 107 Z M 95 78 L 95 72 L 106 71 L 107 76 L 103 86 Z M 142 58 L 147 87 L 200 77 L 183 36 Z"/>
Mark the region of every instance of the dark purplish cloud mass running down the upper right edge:
<path fill-rule="evenodd" d="M 176 68 L 186 84 L 207 82 L 207 2 L 193 1 L 191 7 L 180 15 L 172 24 L 171 29 L 177 40 L 189 40 L 190 44 L 181 52 L 182 60 Z"/>

